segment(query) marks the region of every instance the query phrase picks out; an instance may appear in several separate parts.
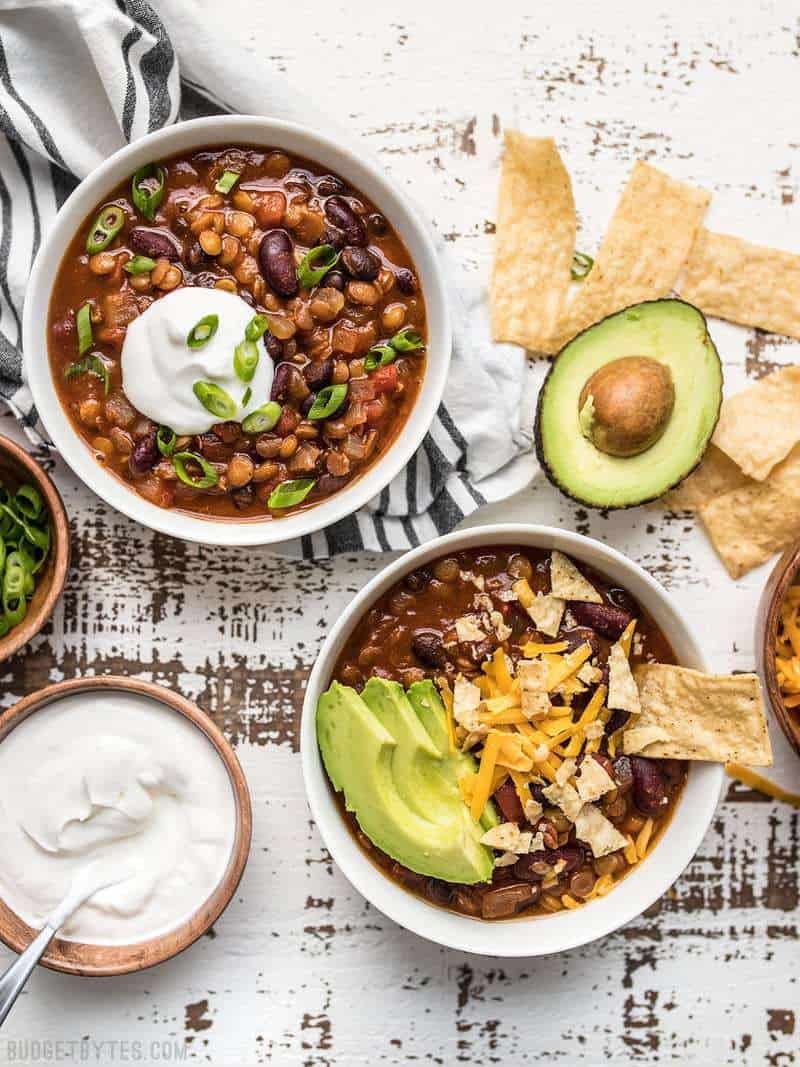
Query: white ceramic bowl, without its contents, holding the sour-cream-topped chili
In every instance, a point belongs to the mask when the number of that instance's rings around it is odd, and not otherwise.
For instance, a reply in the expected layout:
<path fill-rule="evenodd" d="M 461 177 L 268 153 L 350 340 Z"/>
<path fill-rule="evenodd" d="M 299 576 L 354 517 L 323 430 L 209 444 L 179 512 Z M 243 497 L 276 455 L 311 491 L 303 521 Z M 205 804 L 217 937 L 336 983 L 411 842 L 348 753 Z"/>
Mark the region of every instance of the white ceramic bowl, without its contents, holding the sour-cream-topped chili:
<path fill-rule="evenodd" d="M 47 354 L 50 291 L 62 255 L 86 216 L 119 181 L 144 163 L 207 145 L 251 144 L 284 148 L 341 175 L 366 193 L 405 242 L 417 268 L 428 313 L 427 370 L 419 396 L 394 444 L 361 478 L 307 511 L 285 519 L 203 519 L 158 508 L 105 469 L 73 429 L 59 400 Z M 39 249 L 31 272 L 22 318 L 28 379 L 39 417 L 61 455 L 90 489 L 144 526 L 205 544 L 273 544 L 313 534 L 352 514 L 403 469 L 421 444 L 436 413 L 450 363 L 450 322 L 445 288 L 426 225 L 403 193 L 371 161 L 292 123 L 253 115 L 195 118 L 150 133 L 110 156 L 69 196 Z"/>

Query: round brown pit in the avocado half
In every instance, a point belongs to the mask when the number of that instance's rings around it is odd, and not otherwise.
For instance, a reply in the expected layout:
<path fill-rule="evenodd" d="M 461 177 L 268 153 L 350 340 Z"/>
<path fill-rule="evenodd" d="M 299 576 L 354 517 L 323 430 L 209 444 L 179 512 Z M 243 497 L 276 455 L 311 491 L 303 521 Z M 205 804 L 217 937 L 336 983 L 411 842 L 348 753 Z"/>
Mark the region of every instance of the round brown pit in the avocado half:
<path fill-rule="evenodd" d="M 670 368 L 646 355 L 604 364 L 588 379 L 578 399 L 583 435 L 608 456 L 646 451 L 669 425 L 675 405 Z"/>

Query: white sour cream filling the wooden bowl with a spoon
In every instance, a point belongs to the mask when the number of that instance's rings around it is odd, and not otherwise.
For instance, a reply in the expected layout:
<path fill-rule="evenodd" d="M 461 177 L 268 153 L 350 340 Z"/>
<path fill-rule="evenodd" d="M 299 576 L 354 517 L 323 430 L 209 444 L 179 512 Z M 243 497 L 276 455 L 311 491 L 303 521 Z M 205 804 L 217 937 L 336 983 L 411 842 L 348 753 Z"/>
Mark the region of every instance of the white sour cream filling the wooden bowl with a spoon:
<path fill-rule="evenodd" d="M 230 858 L 234 791 L 211 743 L 138 694 L 71 695 L 0 743 L 0 897 L 34 928 L 76 879 L 115 880 L 60 937 L 129 944 L 175 929 Z"/>

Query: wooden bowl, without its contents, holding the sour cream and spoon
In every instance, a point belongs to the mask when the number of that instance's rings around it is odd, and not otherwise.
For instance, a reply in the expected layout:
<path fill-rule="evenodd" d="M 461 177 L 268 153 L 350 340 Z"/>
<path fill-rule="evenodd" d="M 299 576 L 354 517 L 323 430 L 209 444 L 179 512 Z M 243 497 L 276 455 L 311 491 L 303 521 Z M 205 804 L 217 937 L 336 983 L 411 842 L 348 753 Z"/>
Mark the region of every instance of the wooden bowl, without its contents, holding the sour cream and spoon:
<path fill-rule="evenodd" d="M 69 694 L 89 692 L 96 689 L 142 694 L 185 715 L 198 730 L 203 731 L 217 749 L 230 779 L 236 805 L 236 833 L 230 849 L 230 859 L 219 886 L 202 907 L 174 930 L 135 944 L 84 944 L 80 941 L 62 941 L 58 937 L 50 942 L 47 952 L 42 957 L 45 967 L 49 967 L 53 971 L 63 971 L 66 974 L 91 976 L 143 971 L 147 967 L 154 967 L 156 964 L 162 964 L 165 959 L 177 956 L 179 952 L 188 949 L 198 937 L 202 937 L 220 918 L 236 892 L 247 862 L 253 828 L 250 791 L 244 771 L 222 732 L 196 704 L 170 689 L 154 685 L 151 682 L 142 682 L 134 678 L 106 675 L 73 679 L 69 682 L 49 685 L 47 688 L 26 697 L 25 700 L 20 700 L 18 704 L 15 704 L 0 717 L 0 744 L 14 727 L 54 700 Z M 0 901 L 0 940 L 10 949 L 21 952 L 36 933 Z"/>

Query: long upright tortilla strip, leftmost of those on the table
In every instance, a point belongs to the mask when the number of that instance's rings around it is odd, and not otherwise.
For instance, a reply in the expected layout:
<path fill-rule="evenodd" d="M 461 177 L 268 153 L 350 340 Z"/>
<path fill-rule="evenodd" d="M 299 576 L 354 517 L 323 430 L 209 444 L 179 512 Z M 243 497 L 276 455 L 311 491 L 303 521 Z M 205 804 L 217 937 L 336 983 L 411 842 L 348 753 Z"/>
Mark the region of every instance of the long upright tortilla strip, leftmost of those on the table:
<path fill-rule="evenodd" d="M 551 138 L 506 131 L 496 226 L 492 336 L 553 351 L 577 223 L 570 175 Z"/>

